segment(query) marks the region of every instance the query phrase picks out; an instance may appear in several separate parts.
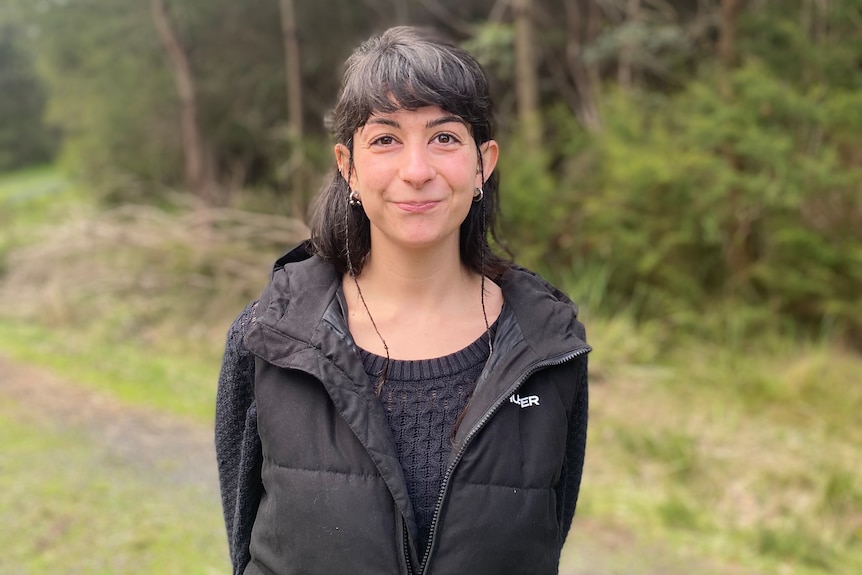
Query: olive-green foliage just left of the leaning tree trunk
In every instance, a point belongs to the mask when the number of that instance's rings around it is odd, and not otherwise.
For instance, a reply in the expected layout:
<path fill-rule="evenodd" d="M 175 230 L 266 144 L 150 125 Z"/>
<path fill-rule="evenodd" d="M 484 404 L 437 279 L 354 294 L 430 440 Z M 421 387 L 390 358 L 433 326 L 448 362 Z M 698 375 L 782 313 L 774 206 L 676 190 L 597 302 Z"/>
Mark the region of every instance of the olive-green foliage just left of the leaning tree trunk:
<path fill-rule="evenodd" d="M 156 60 L 144 2 L 20 3 L 49 93 L 47 121 L 64 135 L 69 171 L 101 182 L 176 183 L 181 165 L 172 86 Z M 125 186 L 141 194 L 140 186 Z M 133 196 L 134 197 L 134 196 Z M 138 195 L 140 197 L 140 195 Z"/>

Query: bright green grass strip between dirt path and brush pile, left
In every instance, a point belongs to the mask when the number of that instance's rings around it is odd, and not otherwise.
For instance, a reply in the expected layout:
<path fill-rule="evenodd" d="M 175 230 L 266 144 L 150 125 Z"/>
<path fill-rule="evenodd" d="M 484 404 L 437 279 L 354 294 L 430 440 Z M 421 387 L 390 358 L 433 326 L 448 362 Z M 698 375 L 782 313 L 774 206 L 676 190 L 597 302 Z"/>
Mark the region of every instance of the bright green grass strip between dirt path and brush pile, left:
<path fill-rule="evenodd" d="M 83 328 L 0 319 L 0 352 L 129 404 L 201 422 L 213 418 L 220 364 L 215 349 L 170 355 L 134 340 L 95 337 Z"/>

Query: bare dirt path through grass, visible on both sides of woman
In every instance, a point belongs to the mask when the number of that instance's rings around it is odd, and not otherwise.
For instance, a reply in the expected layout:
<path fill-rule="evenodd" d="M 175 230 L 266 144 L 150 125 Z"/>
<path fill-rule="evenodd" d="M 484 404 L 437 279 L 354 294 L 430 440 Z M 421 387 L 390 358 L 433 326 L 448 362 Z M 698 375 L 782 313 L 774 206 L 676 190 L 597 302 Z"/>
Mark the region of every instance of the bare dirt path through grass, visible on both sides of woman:
<path fill-rule="evenodd" d="M 164 479 L 211 493 L 219 505 L 212 429 L 146 408 L 125 405 L 46 369 L 0 355 L 0 400 L 26 405 L 15 417 L 81 433 L 130 468 L 158 469 Z M 587 479 L 588 480 L 588 479 Z M 727 575 L 745 573 L 677 550 L 639 542 L 625 528 L 576 518 L 561 575 Z"/>

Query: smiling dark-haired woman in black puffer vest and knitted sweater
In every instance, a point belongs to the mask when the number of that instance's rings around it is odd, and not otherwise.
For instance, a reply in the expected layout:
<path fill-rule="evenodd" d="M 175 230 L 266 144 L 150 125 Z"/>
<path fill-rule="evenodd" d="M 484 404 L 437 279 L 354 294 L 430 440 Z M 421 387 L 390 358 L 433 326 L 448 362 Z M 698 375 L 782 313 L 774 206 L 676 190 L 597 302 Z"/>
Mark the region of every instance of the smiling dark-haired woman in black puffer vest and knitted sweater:
<path fill-rule="evenodd" d="M 490 249 L 486 78 L 394 28 L 347 61 L 311 239 L 228 334 L 234 573 L 556 573 L 583 466 L 577 308 Z"/>

